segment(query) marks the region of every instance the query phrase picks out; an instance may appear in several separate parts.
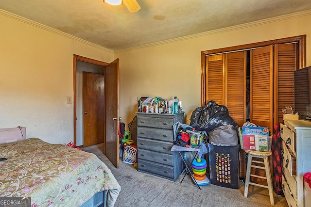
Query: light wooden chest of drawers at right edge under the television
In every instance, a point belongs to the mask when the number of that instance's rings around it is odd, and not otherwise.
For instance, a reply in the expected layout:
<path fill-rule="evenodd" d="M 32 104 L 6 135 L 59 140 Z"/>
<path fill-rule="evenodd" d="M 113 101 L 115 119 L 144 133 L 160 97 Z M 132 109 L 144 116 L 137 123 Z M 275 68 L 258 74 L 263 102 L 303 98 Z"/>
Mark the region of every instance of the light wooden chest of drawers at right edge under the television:
<path fill-rule="evenodd" d="M 303 175 L 311 172 L 311 124 L 304 120 L 284 120 L 282 187 L 289 207 L 311 207 L 311 189 Z"/>

